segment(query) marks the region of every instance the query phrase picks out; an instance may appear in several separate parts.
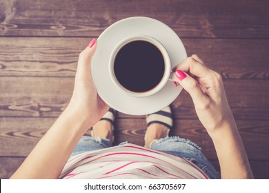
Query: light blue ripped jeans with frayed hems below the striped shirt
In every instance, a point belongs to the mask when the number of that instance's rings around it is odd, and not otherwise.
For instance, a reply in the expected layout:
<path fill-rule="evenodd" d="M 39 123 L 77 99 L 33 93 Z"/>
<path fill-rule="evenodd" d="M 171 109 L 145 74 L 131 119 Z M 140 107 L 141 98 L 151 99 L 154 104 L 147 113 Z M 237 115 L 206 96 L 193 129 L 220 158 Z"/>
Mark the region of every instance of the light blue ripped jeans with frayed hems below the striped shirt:
<path fill-rule="evenodd" d="M 119 145 L 125 143 L 127 142 L 120 143 Z M 110 148 L 111 146 L 108 139 L 94 139 L 90 136 L 82 136 L 71 156 L 92 150 Z M 220 179 L 219 172 L 217 172 L 210 161 L 206 159 L 206 156 L 201 152 L 201 148 L 190 140 L 182 139 L 179 136 L 170 136 L 152 141 L 150 149 L 187 159 L 201 168 L 210 179 Z"/>

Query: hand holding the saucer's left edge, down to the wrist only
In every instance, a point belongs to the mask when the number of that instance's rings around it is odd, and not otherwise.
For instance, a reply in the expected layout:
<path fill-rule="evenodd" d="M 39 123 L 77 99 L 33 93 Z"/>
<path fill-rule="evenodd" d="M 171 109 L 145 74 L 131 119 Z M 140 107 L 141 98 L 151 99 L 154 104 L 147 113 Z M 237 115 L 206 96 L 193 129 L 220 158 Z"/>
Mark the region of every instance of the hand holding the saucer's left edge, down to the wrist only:
<path fill-rule="evenodd" d="M 74 92 L 68 109 L 88 119 L 88 126 L 97 123 L 108 111 L 109 106 L 97 94 L 92 81 L 91 60 L 97 48 L 95 39 L 79 54 L 77 74 L 74 81 Z"/>

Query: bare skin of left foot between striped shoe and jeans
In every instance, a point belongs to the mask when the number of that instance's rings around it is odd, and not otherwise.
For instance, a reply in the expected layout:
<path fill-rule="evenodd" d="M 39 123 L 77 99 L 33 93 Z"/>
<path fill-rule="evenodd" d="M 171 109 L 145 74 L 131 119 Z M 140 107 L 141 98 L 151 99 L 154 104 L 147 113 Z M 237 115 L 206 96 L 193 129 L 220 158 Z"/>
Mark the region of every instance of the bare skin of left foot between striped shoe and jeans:
<path fill-rule="evenodd" d="M 108 139 L 110 143 L 113 142 L 113 125 L 106 120 L 98 121 L 93 127 L 93 135 L 92 137 L 97 138 L 100 137 L 101 139 Z"/>

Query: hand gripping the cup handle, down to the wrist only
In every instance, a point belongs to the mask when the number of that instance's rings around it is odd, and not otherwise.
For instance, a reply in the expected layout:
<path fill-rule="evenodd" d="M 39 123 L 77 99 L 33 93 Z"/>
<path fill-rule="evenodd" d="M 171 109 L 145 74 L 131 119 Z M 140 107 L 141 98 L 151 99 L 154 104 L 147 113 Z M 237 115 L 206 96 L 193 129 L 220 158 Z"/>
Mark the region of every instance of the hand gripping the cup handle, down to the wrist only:
<path fill-rule="evenodd" d="M 224 125 L 235 126 L 219 73 L 207 68 L 197 55 L 177 65 L 175 72 L 180 85 L 192 97 L 199 120 L 210 136 Z"/>

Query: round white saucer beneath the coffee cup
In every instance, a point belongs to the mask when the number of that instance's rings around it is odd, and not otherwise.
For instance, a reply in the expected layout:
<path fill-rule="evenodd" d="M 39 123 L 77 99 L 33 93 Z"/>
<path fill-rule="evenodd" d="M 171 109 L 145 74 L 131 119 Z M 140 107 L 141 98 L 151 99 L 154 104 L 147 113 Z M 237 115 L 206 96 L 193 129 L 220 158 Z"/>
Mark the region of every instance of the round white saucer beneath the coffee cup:
<path fill-rule="evenodd" d="M 176 88 L 172 81 L 168 81 L 156 94 L 136 98 L 126 95 L 112 83 L 108 72 L 110 54 L 119 41 L 135 34 L 146 34 L 161 42 L 169 54 L 172 68 L 187 58 L 183 43 L 166 24 L 148 17 L 130 17 L 112 24 L 97 39 L 97 50 L 92 58 L 92 79 L 99 96 L 111 108 L 125 114 L 150 114 L 170 105 L 182 87 Z"/>

